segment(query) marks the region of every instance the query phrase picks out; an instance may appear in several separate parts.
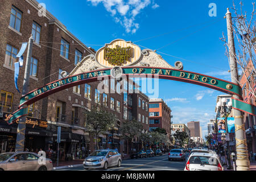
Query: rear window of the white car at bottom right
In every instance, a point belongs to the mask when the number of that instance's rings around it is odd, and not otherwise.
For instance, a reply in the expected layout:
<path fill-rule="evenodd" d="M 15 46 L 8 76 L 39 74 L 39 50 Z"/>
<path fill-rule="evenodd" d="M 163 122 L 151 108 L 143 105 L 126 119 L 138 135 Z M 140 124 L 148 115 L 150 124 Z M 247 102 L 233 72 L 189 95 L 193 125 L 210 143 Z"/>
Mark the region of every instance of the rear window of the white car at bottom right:
<path fill-rule="evenodd" d="M 218 166 L 217 158 L 210 156 L 191 156 L 189 164 L 206 164 L 210 166 Z"/>

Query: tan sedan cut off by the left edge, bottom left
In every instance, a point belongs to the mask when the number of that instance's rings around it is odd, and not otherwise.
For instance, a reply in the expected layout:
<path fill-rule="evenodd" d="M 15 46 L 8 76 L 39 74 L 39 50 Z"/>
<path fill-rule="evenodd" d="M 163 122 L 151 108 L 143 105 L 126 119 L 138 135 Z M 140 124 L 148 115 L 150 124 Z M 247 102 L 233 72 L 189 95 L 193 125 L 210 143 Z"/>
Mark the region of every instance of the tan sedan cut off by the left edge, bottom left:
<path fill-rule="evenodd" d="M 6 152 L 0 154 L 0 171 L 51 171 L 52 160 L 41 161 L 34 152 Z"/>

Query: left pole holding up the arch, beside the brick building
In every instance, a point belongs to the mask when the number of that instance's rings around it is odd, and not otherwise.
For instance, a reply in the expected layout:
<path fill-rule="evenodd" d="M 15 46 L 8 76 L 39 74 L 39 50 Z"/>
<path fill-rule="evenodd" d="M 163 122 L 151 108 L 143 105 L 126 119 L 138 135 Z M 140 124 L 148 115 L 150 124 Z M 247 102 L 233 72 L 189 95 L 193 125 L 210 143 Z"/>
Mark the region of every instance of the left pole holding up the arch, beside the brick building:
<path fill-rule="evenodd" d="M 24 73 L 22 96 L 28 93 L 28 87 L 30 84 L 30 63 L 31 63 L 31 56 L 32 56 L 33 41 L 34 40 L 31 34 L 30 39 L 28 41 L 27 60 L 26 60 L 26 67 L 25 67 L 25 73 Z M 22 106 L 22 108 L 26 108 L 26 107 L 27 105 Z M 26 115 L 23 115 L 22 117 L 19 118 L 15 151 L 24 151 L 25 134 L 26 134 Z"/>

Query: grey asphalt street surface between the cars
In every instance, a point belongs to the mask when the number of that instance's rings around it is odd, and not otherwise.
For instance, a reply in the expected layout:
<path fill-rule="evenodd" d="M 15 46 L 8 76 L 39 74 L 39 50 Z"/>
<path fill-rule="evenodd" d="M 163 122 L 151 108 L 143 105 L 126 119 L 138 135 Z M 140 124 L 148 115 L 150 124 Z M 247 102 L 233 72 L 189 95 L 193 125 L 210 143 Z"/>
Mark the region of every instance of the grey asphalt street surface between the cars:
<path fill-rule="evenodd" d="M 188 154 L 186 154 L 187 158 Z M 123 160 L 121 167 L 110 167 L 105 171 L 183 171 L 185 161 L 168 160 L 168 153 L 157 155 L 150 158 L 138 158 Z M 103 170 L 103 169 L 97 169 Z M 97 171 L 96 169 L 89 169 L 88 171 Z M 84 167 L 72 167 L 56 169 L 56 171 L 84 171 Z"/>

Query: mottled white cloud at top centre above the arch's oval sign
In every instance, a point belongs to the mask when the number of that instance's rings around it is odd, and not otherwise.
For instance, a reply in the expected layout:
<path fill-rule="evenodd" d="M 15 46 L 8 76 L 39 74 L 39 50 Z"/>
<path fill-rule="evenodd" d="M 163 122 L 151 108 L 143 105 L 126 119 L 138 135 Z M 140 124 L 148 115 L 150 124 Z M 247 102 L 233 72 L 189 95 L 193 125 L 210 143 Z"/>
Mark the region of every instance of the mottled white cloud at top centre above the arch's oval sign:
<path fill-rule="evenodd" d="M 152 9 L 159 7 L 154 0 L 87 0 L 93 6 L 102 3 L 105 9 L 114 17 L 115 23 L 120 23 L 127 33 L 134 34 L 139 24 L 135 23 L 135 16 L 148 5 L 152 5 Z"/>

